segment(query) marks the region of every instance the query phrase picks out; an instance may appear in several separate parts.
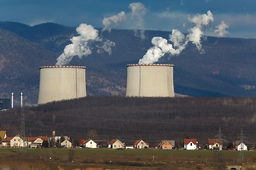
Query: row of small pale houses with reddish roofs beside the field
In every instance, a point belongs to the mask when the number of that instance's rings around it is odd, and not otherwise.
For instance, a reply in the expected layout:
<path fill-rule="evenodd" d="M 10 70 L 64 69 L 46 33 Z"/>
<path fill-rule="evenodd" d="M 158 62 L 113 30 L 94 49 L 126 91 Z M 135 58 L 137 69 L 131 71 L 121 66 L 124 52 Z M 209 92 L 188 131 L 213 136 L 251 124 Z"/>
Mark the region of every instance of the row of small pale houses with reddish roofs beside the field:
<path fill-rule="evenodd" d="M 26 137 L 23 138 L 20 135 L 15 137 L 6 137 L 6 131 L 0 131 L 0 138 L 3 139 L 0 141 L 1 147 L 73 147 L 73 142 L 70 141 L 70 137 Z M 234 142 L 236 150 L 247 150 L 247 145 L 244 142 Z M 98 148 L 100 145 L 97 144 L 92 139 L 80 140 L 79 147 L 85 148 Z M 149 148 L 149 143 L 144 142 L 144 140 L 137 140 L 133 145 L 125 145 L 124 142 L 121 142 L 118 139 L 111 140 L 107 142 L 107 148 L 109 149 L 147 149 Z M 159 149 L 174 149 L 175 140 L 162 140 L 159 142 L 158 146 L 154 148 Z M 194 150 L 202 149 L 196 139 L 184 139 L 183 140 L 183 149 Z M 222 150 L 223 149 L 223 139 L 208 139 L 208 149 Z"/>

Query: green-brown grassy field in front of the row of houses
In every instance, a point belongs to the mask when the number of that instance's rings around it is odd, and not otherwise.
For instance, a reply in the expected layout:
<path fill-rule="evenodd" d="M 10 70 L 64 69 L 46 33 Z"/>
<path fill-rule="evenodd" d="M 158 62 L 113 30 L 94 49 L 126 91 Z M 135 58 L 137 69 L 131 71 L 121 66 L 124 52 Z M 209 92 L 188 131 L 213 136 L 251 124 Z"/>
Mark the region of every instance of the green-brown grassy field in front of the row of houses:
<path fill-rule="evenodd" d="M 8 148 L 0 153 L 1 164 L 4 160 L 39 160 L 46 166 L 69 169 L 225 169 L 233 164 L 256 168 L 256 152 L 242 152 L 243 159 L 239 159 L 241 152 L 209 150 Z"/>

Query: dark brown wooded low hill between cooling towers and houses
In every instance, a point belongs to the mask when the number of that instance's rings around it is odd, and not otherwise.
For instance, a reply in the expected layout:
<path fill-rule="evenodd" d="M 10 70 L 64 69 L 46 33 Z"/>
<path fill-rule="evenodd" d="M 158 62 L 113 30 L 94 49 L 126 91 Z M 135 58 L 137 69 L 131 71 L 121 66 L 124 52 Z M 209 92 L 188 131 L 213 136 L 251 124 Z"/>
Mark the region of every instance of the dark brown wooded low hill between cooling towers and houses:
<path fill-rule="evenodd" d="M 97 140 L 144 139 L 206 143 L 221 135 L 227 141 L 256 142 L 256 98 L 125 98 L 92 97 L 25 108 L 26 136 L 56 135 L 74 139 L 97 132 Z M 1 112 L 1 130 L 16 135 L 20 110 Z"/>

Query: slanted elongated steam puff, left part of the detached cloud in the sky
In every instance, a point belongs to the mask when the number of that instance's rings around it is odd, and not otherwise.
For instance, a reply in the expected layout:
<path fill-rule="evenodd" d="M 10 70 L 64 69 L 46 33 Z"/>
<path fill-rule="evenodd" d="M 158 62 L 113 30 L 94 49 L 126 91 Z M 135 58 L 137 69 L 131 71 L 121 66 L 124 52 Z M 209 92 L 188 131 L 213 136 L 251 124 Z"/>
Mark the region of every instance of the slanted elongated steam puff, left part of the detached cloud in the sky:
<path fill-rule="evenodd" d="M 124 13 L 124 11 L 121 11 L 120 13 L 118 13 L 117 15 L 115 15 L 115 16 L 110 16 L 110 17 L 105 17 L 104 19 L 103 19 L 103 21 L 102 21 L 102 24 L 103 24 L 103 26 L 104 26 L 104 28 L 102 29 L 102 31 L 104 31 L 104 30 L 111 30 L 111 28 L 110 28 L 110 25 L 112 24 L 112 23 L 115 23 L 115 24 L 117 24 L 117 23 L 119 23 L 119 22 L 122 22 L 122 21 L 124 21 L 125 20 L 125 18 L 126 18 L 126 16 L 125 16 L 125 13 Z"/>

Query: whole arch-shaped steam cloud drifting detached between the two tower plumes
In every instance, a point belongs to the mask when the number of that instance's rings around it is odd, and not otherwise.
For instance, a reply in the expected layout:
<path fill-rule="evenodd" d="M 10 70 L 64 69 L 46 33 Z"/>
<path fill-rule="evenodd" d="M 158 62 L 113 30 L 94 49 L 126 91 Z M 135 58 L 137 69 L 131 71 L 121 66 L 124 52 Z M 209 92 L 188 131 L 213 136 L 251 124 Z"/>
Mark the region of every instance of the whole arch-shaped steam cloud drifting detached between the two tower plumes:
<path fill-rule="evenodd" d="M 134 30 L 135 35 L 139 38 L 146 38 L 144 35 L 143 30 L 143 23 L 144 23 L 144 15 L 146 14 L 146 8 L 144 4 L 141 2 L 137 3 L 131 3 L 129 4 L 129 8 L 131 9 L 131 12 L 126 14 L 124 11 L 119 12 L 117 15 L 105 17 L 102 21 L 102 24 L 104 28 L 102 31 L 109 30 L 111 31 L 110 26 L 114 24 L 118 24 L 122 21 L 125 21 L 127 18 L 136 18 L 137 19 L 137 30 Z"/>

